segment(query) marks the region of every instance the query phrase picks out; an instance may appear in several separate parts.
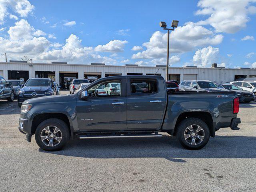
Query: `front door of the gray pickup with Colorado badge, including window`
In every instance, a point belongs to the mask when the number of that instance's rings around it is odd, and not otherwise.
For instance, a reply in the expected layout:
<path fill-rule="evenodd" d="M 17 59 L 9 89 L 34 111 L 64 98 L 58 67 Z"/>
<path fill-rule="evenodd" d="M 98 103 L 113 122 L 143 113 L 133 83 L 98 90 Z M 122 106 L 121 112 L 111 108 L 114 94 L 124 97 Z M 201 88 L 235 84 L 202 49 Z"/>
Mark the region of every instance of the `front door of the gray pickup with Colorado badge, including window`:
<path fill-rule="evenodd" d="M 88 98 L 82 100 L 78 93 L 77 118 L 82 131 L 99 130 L 127 130 L 126 126 L 126 78 L 103 80 L 92 84 L 84 90 L 88 91 Z M 108 83 L 120 85 L 120 92 L 104 94 L 102 87 Z"/>

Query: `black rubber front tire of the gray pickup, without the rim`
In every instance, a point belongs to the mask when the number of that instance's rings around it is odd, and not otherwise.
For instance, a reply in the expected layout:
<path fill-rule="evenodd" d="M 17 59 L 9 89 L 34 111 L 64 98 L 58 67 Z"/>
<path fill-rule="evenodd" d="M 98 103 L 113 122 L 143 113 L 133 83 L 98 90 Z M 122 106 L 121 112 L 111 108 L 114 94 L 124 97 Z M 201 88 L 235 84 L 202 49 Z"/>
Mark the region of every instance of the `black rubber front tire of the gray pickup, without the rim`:
<path fill-rule="evenodd" d="M 61 132 L 62 139 L 56 146 L 47 146 L 41 140 L 41 132 L 47 126 L 50 126 L 50 129 L 52 129 L 51 127 L 55 126 Z M 70 138 L 70 131 L 69 131 L 67 124 L 64 121 L 62 121 L 60 119 L 56 119 L 56 118 L 44 120 L 37 126 L 36 132 L 35 132 L 36 143 L 38 144 L 38 146 L 41 149 L 46 150 L 46 151 L 58 151 L 58 150 L 62 149 L 68 142 L 69 138 Z M 48 140 L 46 140 L 46 142 L 47 141 Z"/>

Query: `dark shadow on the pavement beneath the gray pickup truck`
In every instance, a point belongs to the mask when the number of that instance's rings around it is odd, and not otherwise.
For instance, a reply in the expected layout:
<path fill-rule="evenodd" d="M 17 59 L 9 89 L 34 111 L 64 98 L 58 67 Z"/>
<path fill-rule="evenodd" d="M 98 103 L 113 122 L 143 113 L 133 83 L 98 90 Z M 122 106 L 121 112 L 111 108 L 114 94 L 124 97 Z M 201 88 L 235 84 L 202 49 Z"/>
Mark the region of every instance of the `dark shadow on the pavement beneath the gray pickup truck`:
<path fill-rule="evenodd" d="M 40 152 L 82 158 L 256 158 L 256 137 L 216 136 L 200 150 L 186 150 L 173 136 L 162 138 L 112 138 L 72 140 L 61 151 Z"/>

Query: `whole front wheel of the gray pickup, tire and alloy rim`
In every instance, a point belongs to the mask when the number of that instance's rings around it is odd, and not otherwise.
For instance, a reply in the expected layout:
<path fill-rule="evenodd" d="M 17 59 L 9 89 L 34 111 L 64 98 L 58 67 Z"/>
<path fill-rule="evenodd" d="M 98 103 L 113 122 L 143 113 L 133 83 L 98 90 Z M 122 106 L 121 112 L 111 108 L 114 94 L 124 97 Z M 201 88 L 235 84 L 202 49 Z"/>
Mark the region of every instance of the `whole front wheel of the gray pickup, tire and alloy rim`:
<path fill-rule="evenodd" d="M 58 151 L 70 138 L 70 132 L 65 122 L 51 118 L 41 122 L 36 128 L 35 139 L 40 148 L 46 151 Z"/>

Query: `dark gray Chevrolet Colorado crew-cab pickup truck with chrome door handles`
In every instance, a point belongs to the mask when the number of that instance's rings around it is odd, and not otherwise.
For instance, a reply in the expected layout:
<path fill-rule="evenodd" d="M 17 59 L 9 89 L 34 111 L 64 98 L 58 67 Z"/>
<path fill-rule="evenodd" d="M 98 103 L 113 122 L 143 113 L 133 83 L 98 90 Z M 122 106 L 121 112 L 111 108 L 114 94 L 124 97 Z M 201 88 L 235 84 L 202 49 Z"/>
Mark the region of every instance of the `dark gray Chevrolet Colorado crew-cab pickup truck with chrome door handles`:
<path fill-rule="evenodd" d="M 118 86 L 120 91 L 113 91 Z M 109 94 L 100 94 L 102 91 Z M 238 130 L 239 99 L 233 92 L 167 92 L 161 76 L 101 78 L 75 94 L 23 102 L 19 130 L 44 150 L 70 138 L 176 136 L 187 149 L 204 147 L 216 130 Z"/>

